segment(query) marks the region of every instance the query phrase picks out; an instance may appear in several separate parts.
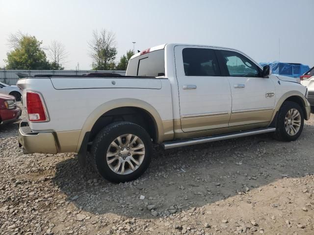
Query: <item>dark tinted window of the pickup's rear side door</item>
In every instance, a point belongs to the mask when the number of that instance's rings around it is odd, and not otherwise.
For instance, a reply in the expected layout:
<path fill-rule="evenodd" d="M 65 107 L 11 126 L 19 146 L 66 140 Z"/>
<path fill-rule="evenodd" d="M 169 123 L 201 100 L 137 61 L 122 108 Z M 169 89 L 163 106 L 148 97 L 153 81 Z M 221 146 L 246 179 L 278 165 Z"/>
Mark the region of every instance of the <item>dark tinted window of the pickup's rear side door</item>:
<path fill-rule="evenodd" d="M 182 50 L 185 76 L 220 76 L 215 51 L 207 48 Z"/>

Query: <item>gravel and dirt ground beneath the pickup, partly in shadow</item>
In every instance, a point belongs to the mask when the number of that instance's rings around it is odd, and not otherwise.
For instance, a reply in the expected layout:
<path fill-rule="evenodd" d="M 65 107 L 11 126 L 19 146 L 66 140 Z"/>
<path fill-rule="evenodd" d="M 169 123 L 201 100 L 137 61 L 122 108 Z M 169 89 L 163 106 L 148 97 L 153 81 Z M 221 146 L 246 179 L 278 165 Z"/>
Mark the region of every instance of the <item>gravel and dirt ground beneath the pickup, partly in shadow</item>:
<path fill-rule="evenodd" d="M 156 150 L 125 184 L 71 153 L 24 155 L 17 130 L 0 126 L 1 235 L 314 234 L 314 116 L 294 142 L 259 135 Z"/>

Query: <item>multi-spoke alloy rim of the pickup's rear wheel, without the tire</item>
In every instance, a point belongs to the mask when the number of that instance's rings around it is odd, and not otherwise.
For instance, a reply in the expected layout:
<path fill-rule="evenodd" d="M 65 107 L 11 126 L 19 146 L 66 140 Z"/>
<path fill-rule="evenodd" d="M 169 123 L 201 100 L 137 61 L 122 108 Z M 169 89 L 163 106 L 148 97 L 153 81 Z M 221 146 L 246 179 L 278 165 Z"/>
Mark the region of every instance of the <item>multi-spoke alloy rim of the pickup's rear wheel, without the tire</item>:
<path fill-rule="evenodd" d="M 106 160 L 110 169 L 120 175 L 135 171 L 143 162 L 145 146 L 143 141 L 132 134 L 119 136 L 108 147 Z"/>

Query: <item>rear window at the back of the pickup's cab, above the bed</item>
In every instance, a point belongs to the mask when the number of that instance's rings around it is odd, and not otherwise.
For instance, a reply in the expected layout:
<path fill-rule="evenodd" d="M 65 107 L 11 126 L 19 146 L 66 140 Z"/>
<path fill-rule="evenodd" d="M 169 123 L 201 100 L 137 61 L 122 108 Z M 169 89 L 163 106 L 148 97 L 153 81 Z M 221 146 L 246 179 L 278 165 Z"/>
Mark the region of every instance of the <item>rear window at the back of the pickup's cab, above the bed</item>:
<path fill-rule="evenodd" d="M 127 76 L 158 77 L 165 75 L 164 49 L 154 50 L 132 58 Z"/>

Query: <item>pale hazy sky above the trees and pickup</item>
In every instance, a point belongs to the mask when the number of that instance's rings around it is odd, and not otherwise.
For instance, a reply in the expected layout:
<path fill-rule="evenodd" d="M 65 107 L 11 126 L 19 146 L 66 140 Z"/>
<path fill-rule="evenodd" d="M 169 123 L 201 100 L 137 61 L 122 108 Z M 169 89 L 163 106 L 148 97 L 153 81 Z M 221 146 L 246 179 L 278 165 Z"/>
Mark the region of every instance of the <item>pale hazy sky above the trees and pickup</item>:
<path fill-rule="evenodd" d="M 93 30 L 115 33 L 116 60 L 165 43 L 236 48 L 257 62 L 314 66 L 314 0 L 0 0 L 0 67 L 18 30 L 61 42 L 65 69 L 91 69 Z"/>

